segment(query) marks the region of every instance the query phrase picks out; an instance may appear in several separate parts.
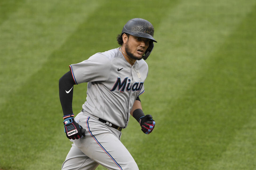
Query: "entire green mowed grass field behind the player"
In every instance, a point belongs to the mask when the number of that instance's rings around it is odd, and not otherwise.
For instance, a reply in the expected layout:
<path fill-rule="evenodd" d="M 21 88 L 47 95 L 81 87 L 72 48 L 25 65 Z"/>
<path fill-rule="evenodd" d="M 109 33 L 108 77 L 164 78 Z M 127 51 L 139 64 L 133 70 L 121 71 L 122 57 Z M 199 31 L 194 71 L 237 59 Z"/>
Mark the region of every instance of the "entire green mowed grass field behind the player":
<path fill-rule="evenodd" d="M 66 138 L 58 80 L 117 48 L 131 18 L 149 20 L 143 111 L 121 141 L 139 169 L 256 169 L 256 1 L 0 1 L 0 169 L 61 169 Z M 74 87 L 81 110 L 86 83 Z M 97 170 L 105 169 L 99 166 Z"/>

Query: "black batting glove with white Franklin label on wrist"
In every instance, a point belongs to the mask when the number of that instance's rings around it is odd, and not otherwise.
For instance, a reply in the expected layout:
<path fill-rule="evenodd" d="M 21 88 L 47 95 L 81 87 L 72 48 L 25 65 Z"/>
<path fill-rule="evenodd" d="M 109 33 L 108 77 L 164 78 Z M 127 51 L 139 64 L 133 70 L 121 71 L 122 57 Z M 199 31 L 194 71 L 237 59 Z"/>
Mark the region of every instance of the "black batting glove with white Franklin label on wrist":
<path fill-rule="evenodd" d="M 75 122 L 74 117 L 66 118 L 64 121 L 64 129 L 67 138 L 69 139 L 79 139 L 85 136 L 85 129 Z"/>

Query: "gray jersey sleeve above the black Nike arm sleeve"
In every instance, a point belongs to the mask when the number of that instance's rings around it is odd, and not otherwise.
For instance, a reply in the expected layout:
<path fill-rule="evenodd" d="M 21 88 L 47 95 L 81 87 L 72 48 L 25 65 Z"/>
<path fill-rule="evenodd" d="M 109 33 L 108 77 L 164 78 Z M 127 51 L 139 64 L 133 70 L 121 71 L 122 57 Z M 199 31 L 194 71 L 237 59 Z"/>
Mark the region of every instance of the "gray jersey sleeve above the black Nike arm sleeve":
<path fill-rule="evenodd" d="M 84 82 L 105 82 L 109 78 L 111 60 L 96 53 L 88 60 L 71 64 L 70 70 L 76 84 Z"/>

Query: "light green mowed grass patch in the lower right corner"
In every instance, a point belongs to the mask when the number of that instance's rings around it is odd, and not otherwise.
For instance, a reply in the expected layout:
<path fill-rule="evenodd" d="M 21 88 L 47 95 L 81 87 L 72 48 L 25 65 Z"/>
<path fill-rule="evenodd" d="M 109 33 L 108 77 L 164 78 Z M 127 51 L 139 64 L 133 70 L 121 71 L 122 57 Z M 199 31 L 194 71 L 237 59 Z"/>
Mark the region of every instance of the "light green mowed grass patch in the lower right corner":
<path fill-rule="evenodd" d="M 239 130 L 227 146 L 217 162 L 209 170 L 244 170 L 256 168 L 256 109 L 253 110 L 249 121 Z"/>

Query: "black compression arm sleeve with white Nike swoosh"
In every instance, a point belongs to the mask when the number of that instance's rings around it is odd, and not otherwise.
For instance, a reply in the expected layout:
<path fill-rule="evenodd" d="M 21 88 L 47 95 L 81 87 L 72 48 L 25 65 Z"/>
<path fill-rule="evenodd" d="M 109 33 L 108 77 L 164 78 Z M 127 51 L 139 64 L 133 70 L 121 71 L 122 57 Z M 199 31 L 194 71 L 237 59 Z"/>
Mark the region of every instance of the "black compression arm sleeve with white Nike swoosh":
<path fill-rule="evenodd" d="M 59 100 L 61 101 L 63 115 L 72 114 L 73 86 L 75 82 L 71 71 L 59 79 Z"/>

